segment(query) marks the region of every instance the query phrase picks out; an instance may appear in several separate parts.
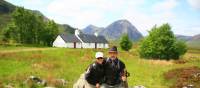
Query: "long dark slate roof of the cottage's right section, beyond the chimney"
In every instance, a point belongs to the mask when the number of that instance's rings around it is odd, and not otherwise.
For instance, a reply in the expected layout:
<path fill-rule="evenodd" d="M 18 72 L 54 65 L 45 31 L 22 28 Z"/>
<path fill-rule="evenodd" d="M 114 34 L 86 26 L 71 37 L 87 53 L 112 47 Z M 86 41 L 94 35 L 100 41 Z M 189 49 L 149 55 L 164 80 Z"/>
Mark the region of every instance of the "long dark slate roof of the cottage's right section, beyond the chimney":
<path fill-rule="evenodd" d="M 81 40 L 85 43 L 108 43 L 108 41 L 105 39 L 104 36 L 95 36 L 95 35 L 90 35 L 90 34 L 79 34 L 78 35 Z"/>

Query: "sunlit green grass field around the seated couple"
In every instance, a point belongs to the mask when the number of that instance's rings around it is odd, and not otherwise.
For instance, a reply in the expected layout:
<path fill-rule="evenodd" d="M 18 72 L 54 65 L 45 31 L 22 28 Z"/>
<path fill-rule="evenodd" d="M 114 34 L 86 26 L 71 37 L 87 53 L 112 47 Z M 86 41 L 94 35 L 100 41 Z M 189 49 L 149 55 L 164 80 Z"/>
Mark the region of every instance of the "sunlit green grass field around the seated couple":
<path fill-rule="evenodd" d="M 48 82 L 63 78 L 68 81 L 66 88 L 72 88 L 80 74 L 94 61 L 96 51 L 103 51 L 107 55 L 106 49 L 23 47 L 21 50 L 20 47 L 1 47 L 0 85 L 13 84 L 16 88 L 22 88 L 23 81 L 35 75 Z M 119 58 L 131 74 L 129 85 L 144 85 L 147 88 L 169 88 L 174 81 L 165 80 L 163 74 L 171 69 L 200 67 L 200 50 L 189 50 L 181 59 L 187 60 L 185 64 L 176 64 L 173 60 L 141 59 L 135 49 L 130 52 L 120 51 Z"/>

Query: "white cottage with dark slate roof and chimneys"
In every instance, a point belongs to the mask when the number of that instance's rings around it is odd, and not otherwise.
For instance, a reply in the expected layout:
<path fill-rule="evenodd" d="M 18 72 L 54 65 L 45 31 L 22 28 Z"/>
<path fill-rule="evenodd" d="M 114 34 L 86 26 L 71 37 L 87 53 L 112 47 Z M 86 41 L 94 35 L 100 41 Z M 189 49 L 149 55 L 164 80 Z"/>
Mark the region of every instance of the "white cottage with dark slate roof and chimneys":
<path fill-rule="evenodd" d="M 65 48 L 108 48 L 108 41 L 104 36 L 80 33 L 75 30 L 75 34 L 60 34 L 53 42 L 53 47 Z"/>

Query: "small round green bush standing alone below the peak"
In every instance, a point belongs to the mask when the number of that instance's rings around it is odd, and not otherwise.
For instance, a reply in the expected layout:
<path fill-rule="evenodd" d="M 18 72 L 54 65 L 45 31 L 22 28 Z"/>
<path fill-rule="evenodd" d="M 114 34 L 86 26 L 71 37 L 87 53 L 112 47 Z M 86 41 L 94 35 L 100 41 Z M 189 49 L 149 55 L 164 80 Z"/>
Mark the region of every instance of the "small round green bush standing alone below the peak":
<path fill-rule="evenodd" d="M 132 48 L 132 45 L 132 41 L 129 39 L 128 35 L 123 35 L 120 40 L 120 47 L 122 50 L 129 51 Z"/>

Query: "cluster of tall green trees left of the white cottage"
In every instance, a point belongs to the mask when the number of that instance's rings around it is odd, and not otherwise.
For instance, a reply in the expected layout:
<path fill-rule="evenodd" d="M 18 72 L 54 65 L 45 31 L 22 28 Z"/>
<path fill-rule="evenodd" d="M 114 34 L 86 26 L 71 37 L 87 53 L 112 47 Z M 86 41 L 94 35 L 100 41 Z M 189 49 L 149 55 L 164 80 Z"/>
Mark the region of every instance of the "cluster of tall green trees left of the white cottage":
<path fill-rule="evenodd" d="M 12 13 L 12 21 L 4 30 L 3 40 L 10 43 L 51 46 L 59 33 L 53 20 L 45 20 L 42 15 L 23 7 Z"/>

